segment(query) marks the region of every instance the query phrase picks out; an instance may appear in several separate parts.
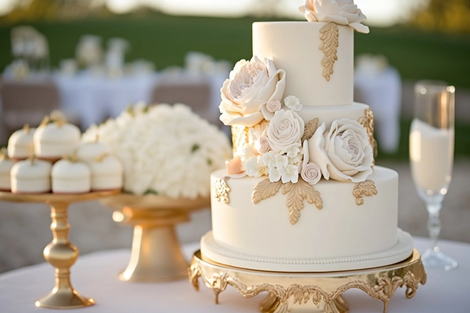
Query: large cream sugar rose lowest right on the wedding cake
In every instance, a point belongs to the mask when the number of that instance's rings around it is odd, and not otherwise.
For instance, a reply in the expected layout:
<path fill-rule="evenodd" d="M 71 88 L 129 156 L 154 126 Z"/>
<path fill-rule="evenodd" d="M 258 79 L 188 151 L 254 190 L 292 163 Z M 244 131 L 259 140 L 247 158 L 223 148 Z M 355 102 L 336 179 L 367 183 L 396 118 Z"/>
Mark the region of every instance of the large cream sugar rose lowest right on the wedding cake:
<path fill-rule="evenodd" d="M 322 123 L 308 141 L 310 162 L 319 165 L 326 180 L 364 182 L 372 174 L 373 151 L 366 129 L 351 119 Z"/>

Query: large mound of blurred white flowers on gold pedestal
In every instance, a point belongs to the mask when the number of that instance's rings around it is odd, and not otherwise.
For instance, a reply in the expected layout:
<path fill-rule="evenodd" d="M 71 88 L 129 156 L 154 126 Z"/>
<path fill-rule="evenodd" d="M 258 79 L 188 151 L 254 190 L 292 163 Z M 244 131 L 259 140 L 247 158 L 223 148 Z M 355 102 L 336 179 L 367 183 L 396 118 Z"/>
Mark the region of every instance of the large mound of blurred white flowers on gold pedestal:
<path fill-rule="evenodd" d="M 111 146 L 124 165 L 124 192 L 172 198 L 206 197 L 210 173 L 225 167 L 231 146 L 217 126 L 185 104 L 136 104 L 90 126 L 82 141 Z"/>

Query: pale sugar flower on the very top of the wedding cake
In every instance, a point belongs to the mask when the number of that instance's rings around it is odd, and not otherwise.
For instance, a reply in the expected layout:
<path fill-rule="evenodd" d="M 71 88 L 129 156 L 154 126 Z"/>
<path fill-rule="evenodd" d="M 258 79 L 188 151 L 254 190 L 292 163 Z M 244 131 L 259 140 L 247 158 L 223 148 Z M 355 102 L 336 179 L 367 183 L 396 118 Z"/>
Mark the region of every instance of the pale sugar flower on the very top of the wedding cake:
<path fill-rule="evenodd" d="M 359 33 L 369 32 L 368 27 L 361 24 L 366 16 L 353 0 L 306 0 L 299 10 L 309 22 L 333 22 L 348 25 Z"/>

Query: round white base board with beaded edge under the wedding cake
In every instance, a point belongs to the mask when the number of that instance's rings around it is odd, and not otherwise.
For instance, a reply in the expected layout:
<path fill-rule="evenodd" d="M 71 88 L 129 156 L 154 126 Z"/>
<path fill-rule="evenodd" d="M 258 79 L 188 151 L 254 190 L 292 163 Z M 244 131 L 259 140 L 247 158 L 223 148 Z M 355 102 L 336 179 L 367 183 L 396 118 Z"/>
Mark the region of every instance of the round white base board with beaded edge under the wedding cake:
<path fill-rule="evenodd" d="M 339 258 L 263 258 L 230 251 L 220 246 L 214 240 L 212 231 L 209 231 L 201 238 L 201 253 L 217 263 L 252 270 L 310 273 L 360 270 L 398 263 L 411 256 L 413 242 L 410 234 L 397 229 L 397 237 L 398 241 L 392 248 L 366 255 Z"/>

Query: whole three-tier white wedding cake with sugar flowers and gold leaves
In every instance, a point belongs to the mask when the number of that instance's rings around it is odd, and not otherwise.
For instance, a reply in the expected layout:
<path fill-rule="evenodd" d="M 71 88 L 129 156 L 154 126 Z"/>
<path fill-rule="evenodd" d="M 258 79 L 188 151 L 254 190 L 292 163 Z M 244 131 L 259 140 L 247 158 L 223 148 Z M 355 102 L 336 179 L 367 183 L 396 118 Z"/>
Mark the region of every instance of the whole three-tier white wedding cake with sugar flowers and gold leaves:
<path fill-rule="evenodd" d="M 307 21 L 253 23 L 253 57 L 221 89 L 234 158 L 211 175 L 202 255 L 256 270 L 373 268 L 408 258 L 398 174 L 374 165 L 373 114 L 353 101 L 352 0 L 307 0 Z"/>

